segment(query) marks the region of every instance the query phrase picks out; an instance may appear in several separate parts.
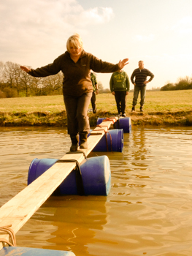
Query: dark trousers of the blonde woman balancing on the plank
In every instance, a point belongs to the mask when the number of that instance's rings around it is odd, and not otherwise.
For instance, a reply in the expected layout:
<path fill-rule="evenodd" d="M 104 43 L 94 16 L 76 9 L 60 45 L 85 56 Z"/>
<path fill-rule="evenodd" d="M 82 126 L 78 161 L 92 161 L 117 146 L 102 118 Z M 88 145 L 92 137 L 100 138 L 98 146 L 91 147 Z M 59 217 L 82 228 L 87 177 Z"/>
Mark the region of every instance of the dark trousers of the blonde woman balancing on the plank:
<path fill-rule="evenodd" d="M 87 112 L 91 97 L 92 92 L 82 94 L 80 97 L 64 95 L 69 135 L 77 135 L 78 132 L 89 133 Z"/>

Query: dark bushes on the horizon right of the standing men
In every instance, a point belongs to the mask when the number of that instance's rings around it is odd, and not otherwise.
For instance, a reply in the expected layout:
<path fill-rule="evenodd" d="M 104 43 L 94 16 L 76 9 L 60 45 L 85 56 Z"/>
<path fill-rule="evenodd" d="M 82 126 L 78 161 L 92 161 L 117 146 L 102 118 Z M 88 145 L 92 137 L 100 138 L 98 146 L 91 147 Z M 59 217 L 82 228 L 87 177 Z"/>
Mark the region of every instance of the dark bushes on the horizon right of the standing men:
<path fill-rule="evenodd" d="M 192 78 L 186 76 L 185 78 L 179 78 L 177 83 L 167 83 L 161 87 L 161 91 L 176 91 L 176 90 L 191 90 Z"/>

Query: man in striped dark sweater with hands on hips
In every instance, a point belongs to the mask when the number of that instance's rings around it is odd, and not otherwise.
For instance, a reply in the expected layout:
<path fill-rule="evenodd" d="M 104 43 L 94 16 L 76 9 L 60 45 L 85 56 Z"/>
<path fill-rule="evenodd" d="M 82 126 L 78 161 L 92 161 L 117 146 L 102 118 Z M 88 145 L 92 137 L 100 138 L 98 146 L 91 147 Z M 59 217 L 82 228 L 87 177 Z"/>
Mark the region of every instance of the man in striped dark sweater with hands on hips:
<path fill-rule="evenodd" d="M 147 80 L 147 76 L 150 76 L 149 80 Z M 131 75 L 131 83 L 134 84 L 134 99 L 133 99 L 133 106 L 131 109 L 132 112 L 135 111 L 135 106 L 137 105 L 139 91 L 141 96 L 140 111 L 143 112 L 143 105 L 145 103 L 146 86 L 147 86 L 147 83 L 149 83 L 153 78 L 154 78 L 153 73 L 150 72 L 148 69 L 144 68 L 144 62 L 139 61 L 139 68 L 134 69 L 134 72 Z"/>

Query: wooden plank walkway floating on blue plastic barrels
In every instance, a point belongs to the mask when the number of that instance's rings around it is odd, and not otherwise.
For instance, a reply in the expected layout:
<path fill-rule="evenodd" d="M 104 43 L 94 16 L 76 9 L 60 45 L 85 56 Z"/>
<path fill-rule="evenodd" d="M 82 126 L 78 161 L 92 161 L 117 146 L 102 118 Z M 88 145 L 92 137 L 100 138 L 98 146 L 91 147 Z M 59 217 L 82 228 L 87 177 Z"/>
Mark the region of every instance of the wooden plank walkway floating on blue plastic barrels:
<path fill-rule="evenodd" d="M 115 129 L 110 129 L 112 124 Z M 12 246 L 4 246 L 4 241 L 9 244 L 10 233 L 15 236 L 50 195 L 108 195 L 111 187 L 108 157 L 87 156 L 91 151 L 122 152 L 123 132 L 131 132 L 131 118 L 98 118 L 96 128 L 88 135 L 88 149 L 68 152 L 61 159 L 31 162 L 28 186 L 0 208 L 0 256 L 74 256 L 73 252 L 17 247 L 13 242 Z"/>

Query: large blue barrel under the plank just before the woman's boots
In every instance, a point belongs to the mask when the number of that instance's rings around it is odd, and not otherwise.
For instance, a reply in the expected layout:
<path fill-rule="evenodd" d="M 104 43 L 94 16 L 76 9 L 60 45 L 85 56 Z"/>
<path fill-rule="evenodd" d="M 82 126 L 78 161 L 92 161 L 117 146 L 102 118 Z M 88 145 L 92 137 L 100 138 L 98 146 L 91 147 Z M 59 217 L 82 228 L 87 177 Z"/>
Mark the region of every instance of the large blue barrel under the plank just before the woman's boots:
<path fill-rule="evenodd" d="M 28 170 L 28 185 L 45 173 L 58 159 L 34 159 Z M 85 195 L 108 195 L 111 187 L 110 160 L 107 156 L 90 157 L 80 165 Z M 57 195 L 78 195 L 76 171 L 72 170 L 61 185 Z M 53 194 L 54 195 L 54 194 Z"/>

